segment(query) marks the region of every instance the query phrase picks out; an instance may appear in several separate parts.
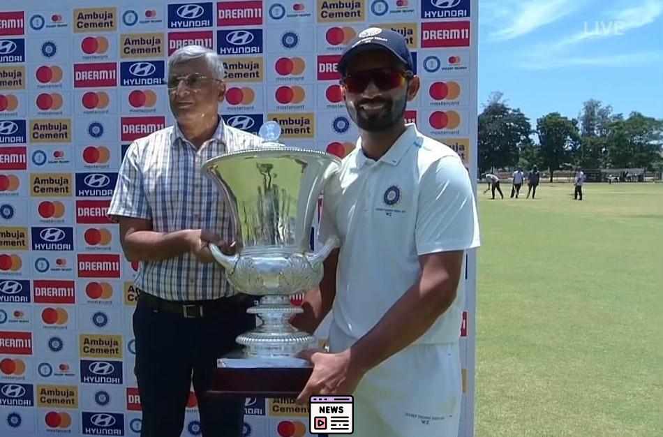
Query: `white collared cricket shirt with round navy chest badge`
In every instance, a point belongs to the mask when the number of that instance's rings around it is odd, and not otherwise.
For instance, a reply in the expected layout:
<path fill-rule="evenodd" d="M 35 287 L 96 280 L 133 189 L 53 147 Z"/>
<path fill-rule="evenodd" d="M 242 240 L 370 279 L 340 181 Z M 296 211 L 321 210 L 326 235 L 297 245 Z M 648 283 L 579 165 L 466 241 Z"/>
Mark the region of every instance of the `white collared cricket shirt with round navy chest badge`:
<path fill-rule="evenodd" d="M 366 158 L 359 139 L 325 187 L 320 242 L 331 234 L 341 239 L 334 322 L 359 339 L 419 279 L 419 255 L 479 246 L 461 158 L 414 124 L 378 161 Z M 456 299 L 415 343 L 458 341 L 464 302 L 461 274 Z"/>

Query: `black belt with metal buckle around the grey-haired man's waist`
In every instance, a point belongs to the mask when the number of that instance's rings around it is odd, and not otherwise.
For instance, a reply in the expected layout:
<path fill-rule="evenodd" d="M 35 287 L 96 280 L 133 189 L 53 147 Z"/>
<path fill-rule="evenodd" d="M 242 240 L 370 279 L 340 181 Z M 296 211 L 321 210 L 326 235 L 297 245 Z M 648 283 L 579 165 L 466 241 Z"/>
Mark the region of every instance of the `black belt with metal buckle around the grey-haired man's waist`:
<path fill-rule="evenodd" d="M 151 309 L 174 313 L 184 318 L 204 318 L 209 316 L 220 316 L 228 313 L 244 312 L 253 304 L 253 296 L 237 294 L 231 297 L 221 297 L 214 300 L 203 301 L 174 301 L 161 299 L 147 292 L 138 294 L 138 302 L 145 304 Z"/>

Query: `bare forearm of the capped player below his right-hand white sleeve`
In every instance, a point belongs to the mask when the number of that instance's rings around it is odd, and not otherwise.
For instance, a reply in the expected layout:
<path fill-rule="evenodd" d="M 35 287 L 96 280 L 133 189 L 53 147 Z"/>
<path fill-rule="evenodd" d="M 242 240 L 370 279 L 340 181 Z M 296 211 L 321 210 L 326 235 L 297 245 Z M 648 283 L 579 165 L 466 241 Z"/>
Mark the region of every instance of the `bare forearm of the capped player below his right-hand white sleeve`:
<path fill-rule="evenodd" d="M 417 281 L 380 321 L 350 348 L 355 365 L 372 369 L 422 336 L 456 297 L 457 281 Z"/>

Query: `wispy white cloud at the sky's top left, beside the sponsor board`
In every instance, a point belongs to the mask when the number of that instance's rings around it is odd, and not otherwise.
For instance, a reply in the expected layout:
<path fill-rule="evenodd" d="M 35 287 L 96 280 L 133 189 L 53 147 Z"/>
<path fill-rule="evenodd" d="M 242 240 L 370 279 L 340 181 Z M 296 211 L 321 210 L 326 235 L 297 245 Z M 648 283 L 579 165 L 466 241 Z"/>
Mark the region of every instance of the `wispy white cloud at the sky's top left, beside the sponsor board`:
<path fill-rule="evenodd" d="M 510 40 L 560 20 L 582 6 L 581 0 L 502 0 L 489 3 L 488 24 L 494 40 Z M 482 6 L 483 8 L 486 6 Z"/>

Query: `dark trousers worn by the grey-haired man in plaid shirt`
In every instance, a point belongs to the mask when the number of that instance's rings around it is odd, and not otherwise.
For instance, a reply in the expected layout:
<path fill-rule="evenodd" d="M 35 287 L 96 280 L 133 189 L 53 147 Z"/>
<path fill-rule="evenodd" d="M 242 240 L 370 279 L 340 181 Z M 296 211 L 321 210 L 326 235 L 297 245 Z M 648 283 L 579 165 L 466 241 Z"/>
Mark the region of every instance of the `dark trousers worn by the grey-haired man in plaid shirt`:
<path fill-rule="evenodd" d="M 179 437 L 189 389 L 198 399 L 203 437 L 241 437 L 244 399 L 210 399 L 216 359 L 237 348 L 234 339 L 255 327 L 250 302 L 229 302 L 228 311 L 184 318 L 141 302 L 133 313 L 136 378 L 142 405 L 141 437 Z"/>

